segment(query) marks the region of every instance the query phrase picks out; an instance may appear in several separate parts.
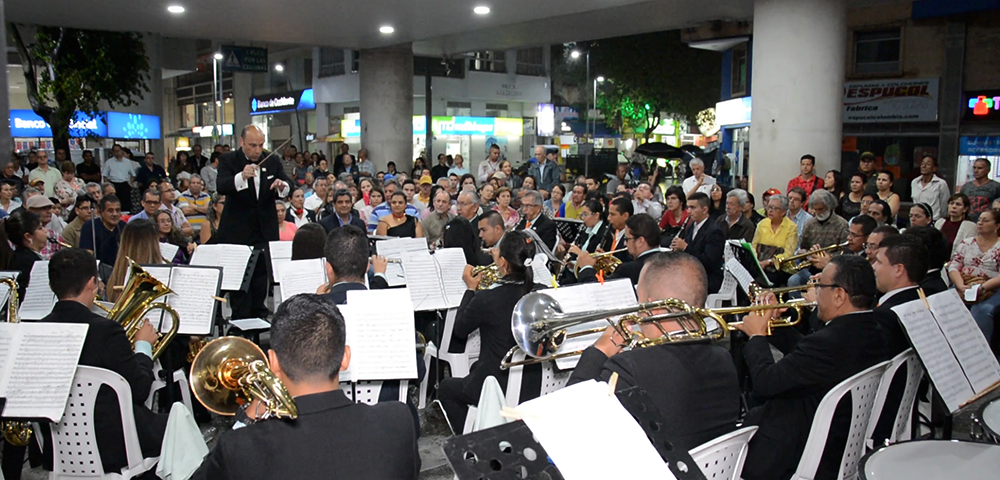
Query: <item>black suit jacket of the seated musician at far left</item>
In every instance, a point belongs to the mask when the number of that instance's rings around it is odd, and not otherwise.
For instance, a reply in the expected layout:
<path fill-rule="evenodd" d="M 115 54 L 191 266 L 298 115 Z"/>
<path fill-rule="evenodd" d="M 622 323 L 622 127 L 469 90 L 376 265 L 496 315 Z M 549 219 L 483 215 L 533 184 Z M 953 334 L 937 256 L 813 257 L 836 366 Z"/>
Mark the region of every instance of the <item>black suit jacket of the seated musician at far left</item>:
<path fill-rule="evenodd" d="M 134 353 L 122 326 L 91 312 L 75 301 L 60 301 L 43 322 L 85 323 L 90 325 L 80 353 L 80 365 L 111 370 L 121 375 L 132 388 L 132 412 L 139 436 L 139 446 L 144 457 L 160 455 L 167 416 L 158 415 L 143 403 L 149 396 L 153 383 L 153 361 L 142 353 Z M 125 458 L 125 440 L 122 434 L 121 410 L 118 397 L 111 388 L 104 386 L 94 404 L 94 434 L 101 451 L 105 472 L 120 472 L 128 464 Z M 46 426 L 47 430 L 47 426 Z M 46 431 L 46 468 L 52 469 L 51 436 Z"/>

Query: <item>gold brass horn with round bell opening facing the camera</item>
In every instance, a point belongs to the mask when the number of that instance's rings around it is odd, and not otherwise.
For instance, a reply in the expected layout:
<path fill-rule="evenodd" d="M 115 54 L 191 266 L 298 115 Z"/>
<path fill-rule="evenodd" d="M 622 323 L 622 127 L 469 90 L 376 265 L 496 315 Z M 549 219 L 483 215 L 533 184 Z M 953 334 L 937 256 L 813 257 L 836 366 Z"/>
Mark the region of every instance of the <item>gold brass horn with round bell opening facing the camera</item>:
<path fill-rule="evenodd" d="M 202 347 L 191 363 L 191 391 L 209 411 L 236 415 L 252 400 L 264 404 L 263 418 L 296 418 L 295 400 L 271 371 L 253 342 L 222 337 Z"/>

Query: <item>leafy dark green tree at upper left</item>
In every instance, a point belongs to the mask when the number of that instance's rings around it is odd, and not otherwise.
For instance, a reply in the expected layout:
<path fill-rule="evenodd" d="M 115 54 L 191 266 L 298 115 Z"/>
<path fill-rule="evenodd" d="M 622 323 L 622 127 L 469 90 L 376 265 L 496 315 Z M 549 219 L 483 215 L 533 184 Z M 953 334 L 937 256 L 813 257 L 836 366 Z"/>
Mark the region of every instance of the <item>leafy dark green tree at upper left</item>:
<path fill-rule="evenodd" d="M 77 111 L 95 117 L 102 102 L 135 105 L 149 91 L 149 58 L 138 33 L 35 27 L 34 43 L 26 44 L 17 25 L 8 28 L 31 109 L 52 128 L 57 149 L 69 151 Z"/>

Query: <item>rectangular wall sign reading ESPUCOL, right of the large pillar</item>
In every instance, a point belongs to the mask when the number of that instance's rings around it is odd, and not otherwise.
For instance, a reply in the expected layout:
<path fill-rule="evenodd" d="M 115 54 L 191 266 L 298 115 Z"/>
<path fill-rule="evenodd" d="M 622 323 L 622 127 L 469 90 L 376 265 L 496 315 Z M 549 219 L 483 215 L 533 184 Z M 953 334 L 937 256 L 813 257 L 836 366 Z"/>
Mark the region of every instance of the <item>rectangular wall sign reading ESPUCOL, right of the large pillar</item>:
<path fill-rule="evenodd" d="M 936 122 L 938 79 L 844 84 L 844 123 Z"/>

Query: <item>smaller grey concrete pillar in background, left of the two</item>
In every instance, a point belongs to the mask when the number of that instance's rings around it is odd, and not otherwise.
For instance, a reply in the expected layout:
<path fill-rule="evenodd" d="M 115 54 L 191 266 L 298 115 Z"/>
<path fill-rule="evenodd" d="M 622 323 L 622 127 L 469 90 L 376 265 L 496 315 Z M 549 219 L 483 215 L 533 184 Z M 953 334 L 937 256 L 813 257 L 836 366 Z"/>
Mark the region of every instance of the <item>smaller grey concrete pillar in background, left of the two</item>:
<path fill-rule="evenodd" d="M 413 167 L 413 47 L 409 44 L 361 52 L 361 145 L 376 168 L 396 162 Z"/>

